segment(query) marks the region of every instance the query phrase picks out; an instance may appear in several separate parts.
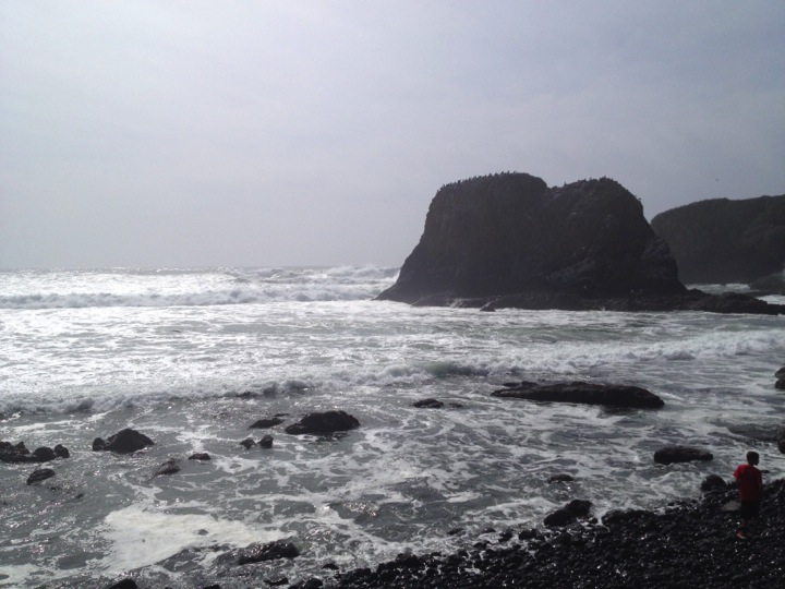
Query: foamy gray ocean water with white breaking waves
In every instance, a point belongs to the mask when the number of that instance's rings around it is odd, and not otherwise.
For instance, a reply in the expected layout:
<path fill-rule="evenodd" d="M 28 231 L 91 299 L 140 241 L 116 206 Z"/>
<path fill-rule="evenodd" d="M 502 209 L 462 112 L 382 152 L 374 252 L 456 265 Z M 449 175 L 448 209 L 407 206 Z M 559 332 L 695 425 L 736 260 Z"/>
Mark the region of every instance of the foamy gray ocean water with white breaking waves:
<path fill-rule="evenodd" d="M 229 549 L 286 539 L 292 582 L 335 563 L 455 551 L 541 526 L 572 498 L 600 517 L 700 497 L 782 425 L 785 316 L 414 308 L 374 301 L 394 267 L 0 272 L 0 440 L 62 444 L 56 476 L 0 464 L 0 587 L 80 587 L 134 573 L 191 587 Z M 771 298 L 785 302 L 785 298 Z M 661 410 L 491 396 L 504 383 L 645 387 Z M 439 409 L 418 409 L 436 398 Z M 334 437 L 283 426 L 345 410 Z M 283 414 L 270 430 L 257 419 Z M 93 452 L 123 428 L 155 445 Z M 274 436 L 269 449 L 244 438 Z M 711 462 L 661 466 L 666 444 Z M 188 460 L 194 453 L 209 461 Z M 154 476 L 169 458 L 181 470 Z M 550 483 L 553 474 L 575 478 Z M 141 570 L 141 573 L 140 573 Z"/>

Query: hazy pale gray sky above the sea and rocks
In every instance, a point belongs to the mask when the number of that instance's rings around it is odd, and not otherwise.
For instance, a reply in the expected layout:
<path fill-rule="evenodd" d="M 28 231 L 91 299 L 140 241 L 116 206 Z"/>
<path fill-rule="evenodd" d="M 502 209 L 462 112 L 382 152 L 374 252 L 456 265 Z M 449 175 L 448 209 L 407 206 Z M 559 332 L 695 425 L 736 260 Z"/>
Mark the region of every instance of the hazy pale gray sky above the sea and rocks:
<path fill-rule="evenodd" d="M 0 1 L 0 267 L 399 265 L 444 183 L 785 193 L 785 2 Z"/>

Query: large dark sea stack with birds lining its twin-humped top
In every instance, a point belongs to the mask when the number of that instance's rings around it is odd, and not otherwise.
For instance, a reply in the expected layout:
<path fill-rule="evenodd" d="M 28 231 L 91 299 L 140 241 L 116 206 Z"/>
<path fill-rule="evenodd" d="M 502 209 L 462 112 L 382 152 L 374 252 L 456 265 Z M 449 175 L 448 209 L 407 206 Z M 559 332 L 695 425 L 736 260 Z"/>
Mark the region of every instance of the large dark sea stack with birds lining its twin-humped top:
<path fill-rule="evenodd" d="M 379 299 L 684 291 L 640 202 L 609 179 L 550 189 L 526 173 L 463 180 L 433 199 L 420 243 Z"/>

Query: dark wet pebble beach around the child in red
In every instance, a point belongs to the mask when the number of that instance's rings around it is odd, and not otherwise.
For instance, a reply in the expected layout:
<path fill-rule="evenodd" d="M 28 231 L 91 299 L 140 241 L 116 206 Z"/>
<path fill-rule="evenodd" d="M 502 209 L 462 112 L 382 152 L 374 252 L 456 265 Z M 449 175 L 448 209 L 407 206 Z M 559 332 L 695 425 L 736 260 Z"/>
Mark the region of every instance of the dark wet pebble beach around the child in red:
<path fill-rule="evenodd" d="M 782 587 L 785 572 L 785 484 L 764 485 L 765 526 L 736 538 L 738 514 L 722 506 L 735 490 L 656 514 L 612 512 L 601 524 L 553 532 L 522 530 L 519 543 L 482 542 L 455 554 L 400 555 L 374 569 L 327 581 L 328 588 L 463 589 L 581 587 Z"/>

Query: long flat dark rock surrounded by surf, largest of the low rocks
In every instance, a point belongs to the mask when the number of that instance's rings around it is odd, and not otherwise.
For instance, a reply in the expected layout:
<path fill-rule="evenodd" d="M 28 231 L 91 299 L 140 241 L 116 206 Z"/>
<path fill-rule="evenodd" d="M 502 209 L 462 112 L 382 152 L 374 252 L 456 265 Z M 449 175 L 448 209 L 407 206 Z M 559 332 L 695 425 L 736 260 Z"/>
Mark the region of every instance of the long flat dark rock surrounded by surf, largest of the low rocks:
<path fill-rule="evenodd" d="M 665 405 L 654 393 L 638 386 L 582 382 L 538 384 L 524 381 L 516 387 L 494 390 L 491 395 L 535 401 L 577 402 L 642 409 L 657 409 Z"/>

